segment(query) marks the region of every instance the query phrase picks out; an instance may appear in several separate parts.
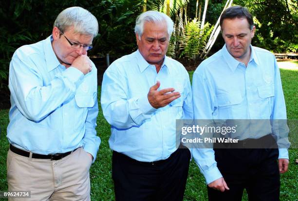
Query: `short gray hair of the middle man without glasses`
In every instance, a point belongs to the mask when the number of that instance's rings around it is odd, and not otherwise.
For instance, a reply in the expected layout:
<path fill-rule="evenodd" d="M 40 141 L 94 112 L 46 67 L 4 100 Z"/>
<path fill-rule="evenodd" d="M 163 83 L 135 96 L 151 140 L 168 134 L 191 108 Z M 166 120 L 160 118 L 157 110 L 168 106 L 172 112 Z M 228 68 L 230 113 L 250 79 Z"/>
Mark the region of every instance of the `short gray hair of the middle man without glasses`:
<path fill-rule="evenodd" d="M 135 20 L 134 33 L 138 34 L 139 39 L 141 39 L 144 31 L 144 22 L 161 23 L 166 21 L 168 29 L 168 39 L 170 39 L 171 34 L 174 30 L 174 23 L 166 14 L 158 11 L 147 11 L 139 15 Z"/>

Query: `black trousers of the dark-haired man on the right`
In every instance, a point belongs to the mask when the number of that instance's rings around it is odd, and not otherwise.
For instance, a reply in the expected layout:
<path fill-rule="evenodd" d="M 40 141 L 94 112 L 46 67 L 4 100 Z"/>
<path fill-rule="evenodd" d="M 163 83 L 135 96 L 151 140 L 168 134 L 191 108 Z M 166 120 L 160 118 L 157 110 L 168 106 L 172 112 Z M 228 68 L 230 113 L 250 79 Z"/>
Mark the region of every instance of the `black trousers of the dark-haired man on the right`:
<path fill-rule="evenodd" d="M 208 189 L 209 201 L 241 201 L 244 188 L 249 201 L 279 201 L 277 148 L 214 149 L 215 160 L 230 190 Z"/>

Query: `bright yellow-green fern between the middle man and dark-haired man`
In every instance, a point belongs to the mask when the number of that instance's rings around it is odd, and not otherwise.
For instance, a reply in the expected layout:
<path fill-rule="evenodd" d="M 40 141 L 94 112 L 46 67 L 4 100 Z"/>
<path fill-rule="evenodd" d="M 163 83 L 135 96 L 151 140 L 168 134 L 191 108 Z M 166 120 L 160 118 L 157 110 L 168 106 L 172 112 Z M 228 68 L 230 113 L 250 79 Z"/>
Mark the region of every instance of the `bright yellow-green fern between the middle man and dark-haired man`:
<path fill-rule="evenodd" d="M 213 26 L 209 23 L 201 29 L 201 22 L 194 18 L 188 22 L 184 29 L 184 37 L 181 38 L 181 48 L 183 49 L 182 56 L 195 60 L 205 48 L 208 37 L 211 34 Z"/>

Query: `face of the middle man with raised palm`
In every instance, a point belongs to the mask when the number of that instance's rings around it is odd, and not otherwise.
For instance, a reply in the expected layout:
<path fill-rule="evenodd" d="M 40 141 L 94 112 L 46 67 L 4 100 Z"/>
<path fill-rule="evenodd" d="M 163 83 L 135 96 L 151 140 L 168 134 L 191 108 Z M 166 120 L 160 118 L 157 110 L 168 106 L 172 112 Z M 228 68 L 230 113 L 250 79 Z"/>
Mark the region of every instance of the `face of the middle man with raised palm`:
<path fill-rule="evenodd" d="M 136 34 L 137 44 L 141 55 L 149 64 L 161 65 L 168 51 L 167 23 L 145 22 L 141 39 Z"/>

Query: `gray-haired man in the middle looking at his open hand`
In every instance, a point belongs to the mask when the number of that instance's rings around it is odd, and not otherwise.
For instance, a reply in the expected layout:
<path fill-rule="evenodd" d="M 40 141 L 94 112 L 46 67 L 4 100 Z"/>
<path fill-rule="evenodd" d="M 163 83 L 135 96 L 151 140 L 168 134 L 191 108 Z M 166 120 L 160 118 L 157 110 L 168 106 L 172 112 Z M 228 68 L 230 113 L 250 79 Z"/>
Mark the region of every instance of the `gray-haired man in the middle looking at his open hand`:
<path fill-rule="evenodd" d="M 183 200 L 190 152 L 177 149 L 175 125 L 176 119 L 192 119 L 193 110 L 188 73 L 165 56 L 172 31 L 167 15 L 141 14 L 138 50 L 104 74 L 101 106 L 112 125 L 117 201 Z"/>

